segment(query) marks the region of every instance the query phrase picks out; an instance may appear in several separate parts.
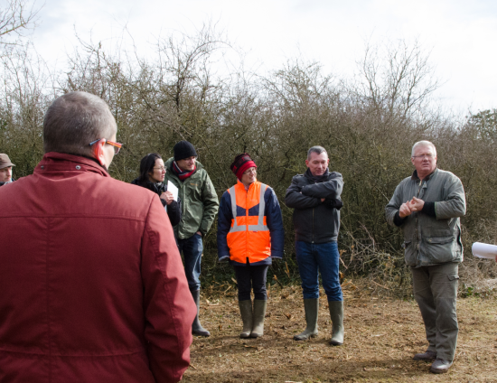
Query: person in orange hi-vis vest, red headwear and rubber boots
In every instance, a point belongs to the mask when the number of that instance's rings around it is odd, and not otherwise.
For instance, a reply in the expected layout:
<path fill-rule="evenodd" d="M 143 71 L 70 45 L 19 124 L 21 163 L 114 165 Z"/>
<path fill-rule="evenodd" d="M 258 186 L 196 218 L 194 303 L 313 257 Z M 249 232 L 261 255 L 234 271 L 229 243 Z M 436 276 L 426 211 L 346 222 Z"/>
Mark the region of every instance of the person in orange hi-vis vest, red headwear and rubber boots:
<path fill-rule="evenodd" d="M 250 156 L 237 155 L 230 168 L 238 182 L 220 199 L 218 256 L 220 261 L 230 261 L 237 276 L 243 321 L 239 336 L 258 338 L 264 333 L 267 268 L 271 258 L 283 257 L 285 231 L 277 195 L 258 182 L 257 165 Z"/>

